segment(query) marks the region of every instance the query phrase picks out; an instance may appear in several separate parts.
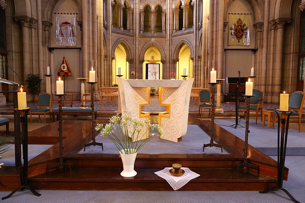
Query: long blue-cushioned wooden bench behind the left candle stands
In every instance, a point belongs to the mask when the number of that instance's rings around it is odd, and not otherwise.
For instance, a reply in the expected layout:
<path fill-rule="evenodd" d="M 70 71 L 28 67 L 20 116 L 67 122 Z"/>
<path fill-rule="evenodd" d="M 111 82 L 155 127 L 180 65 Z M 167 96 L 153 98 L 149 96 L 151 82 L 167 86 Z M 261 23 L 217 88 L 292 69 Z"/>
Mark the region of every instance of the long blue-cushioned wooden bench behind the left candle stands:
<path fill-rule="evenodd" d="M 66 107 L 62 109 L 63 109 L 62 115 L 74 115 L 74 117 L 76 117 L 77 115 L 92 115 L 91 108 Z M 97 109 L 94 109 L 94 119 L 96 119 L 96 113 L 97 113 Z M 58 108 L 52 109 L 53 122 L 55 122 L 55 115 L 58 120 L 59 117 Z"/>

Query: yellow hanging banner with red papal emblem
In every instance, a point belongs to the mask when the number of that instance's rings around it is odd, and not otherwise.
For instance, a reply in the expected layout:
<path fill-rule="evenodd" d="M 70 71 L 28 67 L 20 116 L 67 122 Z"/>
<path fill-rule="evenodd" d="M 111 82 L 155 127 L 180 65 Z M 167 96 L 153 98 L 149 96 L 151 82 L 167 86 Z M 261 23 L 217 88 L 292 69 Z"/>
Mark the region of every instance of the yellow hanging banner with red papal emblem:
<path fill-rule="evenodd" d="M 250 45 L 250 14 L 229 14 L 228 45 Z"/>

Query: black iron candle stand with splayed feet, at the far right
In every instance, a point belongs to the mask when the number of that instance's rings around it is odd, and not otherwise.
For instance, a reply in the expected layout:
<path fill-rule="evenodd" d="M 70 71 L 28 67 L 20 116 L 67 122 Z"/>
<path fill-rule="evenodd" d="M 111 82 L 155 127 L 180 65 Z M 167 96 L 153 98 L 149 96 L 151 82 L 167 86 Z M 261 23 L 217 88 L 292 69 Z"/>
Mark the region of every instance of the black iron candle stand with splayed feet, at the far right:
<path fill-rule="evenodd" d="M 282 112 L 282 119 L 280 119 L 280 115 L 278 114 L 278 111 Z M 275 110 L 275 113 L 278 115 L 278 185 L 275 187 L 271 187 L 265 191 L 260 191 L 260 193 L 267 193 L 272 190 L 282 190 L 289 196 L 289 198 L 292 201 L 299 202 L 295 198 L 293 198 L 292 195 L 287 190 L 283 188 L 289 118 L 292 111 L 287 115 L 287 123 L 285 119 L 286 112 L 287 111 L 282 111 L 280 109 Z M 280 122 L 282 124 L 281 136 L 280 136 L 280 125 L 279 125 Z M 285 126 L 286 126 L 286 131 L 285 131 Z"/>

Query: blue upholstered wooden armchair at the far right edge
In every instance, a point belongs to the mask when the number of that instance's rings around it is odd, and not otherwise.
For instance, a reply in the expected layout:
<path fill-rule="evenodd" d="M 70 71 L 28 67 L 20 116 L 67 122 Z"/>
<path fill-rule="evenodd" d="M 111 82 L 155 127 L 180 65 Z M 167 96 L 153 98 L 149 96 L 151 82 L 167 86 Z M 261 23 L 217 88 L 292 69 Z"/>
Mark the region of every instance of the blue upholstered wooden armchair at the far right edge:
<path fill-rule="evenodd" d="M 301 132 L 301 117 L 302 117 L 302 110 L 303 110 L 303 104 L 304 104 L 304 92 L 302 91 L 295 91 L 290 95 L 290 99 L 289 99 L 289 104 L 288 104 L 288 109 L 292 110 L 294 112 L 292 112 L 290 114 L 290 118 L 299 118 L 299 132 Z M 280 115 L 280 119 L 282 118 L 282 112 L 277 111 L 278 114 Z M 286 115 L 288 115 L 290 112 L 286 112 Z M 275 112 L 272 113 L 272 125 L 274 128 L 274 123 L 275 123 L 275 116 L 277 116 L 277 114 Z"/>

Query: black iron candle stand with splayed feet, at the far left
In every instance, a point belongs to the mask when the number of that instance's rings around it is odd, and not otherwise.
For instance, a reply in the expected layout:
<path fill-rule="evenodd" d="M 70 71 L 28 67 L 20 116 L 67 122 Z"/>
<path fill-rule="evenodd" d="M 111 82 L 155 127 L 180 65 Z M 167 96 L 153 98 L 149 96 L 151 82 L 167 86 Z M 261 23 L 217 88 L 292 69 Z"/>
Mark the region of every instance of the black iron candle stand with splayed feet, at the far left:
<path fill-rule="evenodd" d="M 11 192 L 9 195 L 5 196 L 2 198 L 2 200 L 9 198 L 10 196 L 12 196 L 16 191 L 18 190 L 23 190 L 23 189 L 28 189 L 30 190 L 34 195 L 36 196 L 40 196 L 41 194 L 39 194 L 38 192 L 36 192 L 33 188 L 31 188 L 29 186 L 28 183 L 28 139 L 27 139 L 27 114 L 30 111 L 30 107 L 28 107 L 27 109 L 22 109 L 19 110 L 18 108 L 14 108 L 14 112 L 17 115 L 21 115 L 20 118 L 18 118 L 18 123 L 20 124 L 19 121 L 21 121 L 21 129 L 22 129 L 22 152 L 23 152 L 23 165 L 20 161 L 20 165 L 21 165 L 21 186 L 19 188 L 16 188 L 13 192 Z M 19 139 L 20 139 L 20 125 L 19 125 Z M 21 156 L 21 154 L 20 154 Z M 21 159 L 20 159 L 21 160 Z"/>

